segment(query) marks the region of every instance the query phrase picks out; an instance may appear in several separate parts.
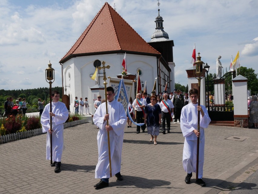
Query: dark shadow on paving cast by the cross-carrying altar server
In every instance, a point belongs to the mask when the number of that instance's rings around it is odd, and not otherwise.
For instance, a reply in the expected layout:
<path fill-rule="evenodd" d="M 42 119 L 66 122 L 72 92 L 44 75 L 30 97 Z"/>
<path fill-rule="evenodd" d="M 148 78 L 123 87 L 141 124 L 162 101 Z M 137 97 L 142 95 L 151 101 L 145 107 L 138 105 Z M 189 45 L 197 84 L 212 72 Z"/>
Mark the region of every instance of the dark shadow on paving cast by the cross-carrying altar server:
<path fill-rule="evenodd" d="M 115 186 L 117 188 L 142 188 L 142 189 L 154 189 L 157 187 L 171 189 L 174 187 L 164 187 L 171 184 L 171 182 L 158 180 L 158 179 L 145 179 L 137 176 L 125 176 L 123 175 L 123 181 L 110 182 L 109 186 Z"/>

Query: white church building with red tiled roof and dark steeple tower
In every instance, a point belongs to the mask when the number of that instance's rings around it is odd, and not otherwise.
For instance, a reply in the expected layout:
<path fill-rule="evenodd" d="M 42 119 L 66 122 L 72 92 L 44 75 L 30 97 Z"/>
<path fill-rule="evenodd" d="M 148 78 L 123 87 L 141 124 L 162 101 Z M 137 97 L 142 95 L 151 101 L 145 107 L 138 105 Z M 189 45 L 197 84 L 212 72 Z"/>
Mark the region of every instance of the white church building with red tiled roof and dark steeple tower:
<path fill-rule="evenodd" d="M 91 88 L 104 87 L 103 70 L 98 70 L 97 82 L 91 79 L 96 67 L 106 62 L 105 66 L 110 66 L 110 69 L 106 69 L 106 76 L 116 78 L 123 71 L 121 64 L 125 53 L 127 73 L 137 75 L 137 70 L 140 70 L 140 80 L 146 81 L 148 93 L 151 93 L 156 77 L 157 94 L 163 92 L 166 83 L 167 91 L 173 91 L 174 42 L 164 32 L 163 18 L 159 14 L 155 23 L 156 31 L 147 43 L 107 2 L 104 3 L 59 61 L 62 65 L 63 94 L 69 97 L 70 111 L 73 110 L 75 96 L 83 100 L 88 97 L 90 107 L 94 106 Z"/>

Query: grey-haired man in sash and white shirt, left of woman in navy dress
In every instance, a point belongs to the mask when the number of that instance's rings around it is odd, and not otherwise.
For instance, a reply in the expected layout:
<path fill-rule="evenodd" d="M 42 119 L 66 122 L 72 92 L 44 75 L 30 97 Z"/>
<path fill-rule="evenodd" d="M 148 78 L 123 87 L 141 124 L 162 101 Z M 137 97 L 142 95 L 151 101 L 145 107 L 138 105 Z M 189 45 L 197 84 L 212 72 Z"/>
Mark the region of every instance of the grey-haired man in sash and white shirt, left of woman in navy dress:
<path fill-rule="evenodd" d="M 136 110 L 136 122 L 137 123 L 144 123 L 144 115 L 145 115 L 145 110 L 144 107 L 147 106 L 147 102 L 146 100 L 144 100 L 143 98 L 141 98 L 141 94 L 138 93 L 136 95 L 136 99 L 133 102 L 133 108 L 134 110 Z M 146 124 L 141 126 L 141 130 L 144 133 L 145 132 L 145 128 L 146 128 Z M 137 133 L 140 133 L 140 126 L 137 125 L 137 129 L 136 129 Z"/>

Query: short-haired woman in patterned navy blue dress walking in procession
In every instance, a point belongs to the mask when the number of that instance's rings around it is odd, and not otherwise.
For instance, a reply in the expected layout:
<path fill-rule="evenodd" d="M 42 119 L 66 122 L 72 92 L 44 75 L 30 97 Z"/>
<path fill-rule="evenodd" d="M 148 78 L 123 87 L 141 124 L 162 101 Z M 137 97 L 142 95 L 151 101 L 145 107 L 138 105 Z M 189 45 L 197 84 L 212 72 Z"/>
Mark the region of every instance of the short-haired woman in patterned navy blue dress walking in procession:
<path fill-rule="evenodd" d="M 145 106 L 144 123 L 147 124 L 148 134 L 151 134 L 151 142 L 154 140 L 154 145 L 157 145 L 157 136 L 160 132 L 161 109 L 157 103 L 157 97 L 151 96 L 151 103 Z"/>

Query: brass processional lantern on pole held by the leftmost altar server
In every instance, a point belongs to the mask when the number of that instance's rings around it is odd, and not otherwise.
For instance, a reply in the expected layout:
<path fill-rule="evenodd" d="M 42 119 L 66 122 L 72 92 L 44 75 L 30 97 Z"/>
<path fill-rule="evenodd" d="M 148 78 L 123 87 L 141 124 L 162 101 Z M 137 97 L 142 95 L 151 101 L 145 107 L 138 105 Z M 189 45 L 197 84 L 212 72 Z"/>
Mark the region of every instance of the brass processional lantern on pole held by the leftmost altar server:
<path fill-rule="evenodd" d="M 52 68 L 52 64 L 48 63 L 48 68 L 45 70 L 46 81 L 49 83 L 50 90 L 50 112 L 52 112 L 52 83 L 55 81 L 55 69 Z M 52 81 L 53 80 L 53 81 Z M 52 131 L 52 116 L 50 116 L 50 131 Z M 50 134 L 50 164 L 53 164 L 53 153 L 52 153 L 52 134 Z"/>

